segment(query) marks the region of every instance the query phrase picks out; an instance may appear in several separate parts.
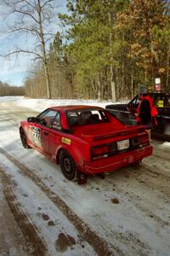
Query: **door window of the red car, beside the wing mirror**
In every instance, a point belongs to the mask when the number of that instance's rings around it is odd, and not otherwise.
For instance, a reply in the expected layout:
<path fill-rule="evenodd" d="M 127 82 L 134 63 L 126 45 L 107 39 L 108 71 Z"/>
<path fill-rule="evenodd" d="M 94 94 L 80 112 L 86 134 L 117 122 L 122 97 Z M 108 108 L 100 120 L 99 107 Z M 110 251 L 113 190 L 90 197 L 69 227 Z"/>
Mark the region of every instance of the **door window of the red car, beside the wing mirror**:
<path fill-rule="evenodd" d="M 52 109 L 45 110 L 44 112 L 42 112 L 37 116 L 38 123 L 51 128 L 53 125 L 56 113 L 57 112 Z"/>

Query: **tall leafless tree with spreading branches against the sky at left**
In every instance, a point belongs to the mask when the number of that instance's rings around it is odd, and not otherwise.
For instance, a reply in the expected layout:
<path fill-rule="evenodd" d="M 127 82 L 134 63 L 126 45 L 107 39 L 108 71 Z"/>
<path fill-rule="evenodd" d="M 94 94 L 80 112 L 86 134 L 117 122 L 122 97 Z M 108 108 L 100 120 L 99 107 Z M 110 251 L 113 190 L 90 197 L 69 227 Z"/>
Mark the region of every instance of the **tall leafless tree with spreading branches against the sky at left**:
<path fill-rule="evenodd" d="M 17 56 L 24 53 L 33 55 L 34 60 L 41 60 L 46 80 L 47 97 L 51 98 L 46 47 L 48 41 L 54 36 L 50 32 L 50 24 L 54 18 L 56 0 L 2 0 L 2 2 L 2 5 L 8 10 L 8 15 L 11 15 L 11 20 L 13 20 L 13 25 L 9 22 L 6 32 L 26 34 L 27 38 L 31 35 L 35 41 L 30 46 L 17 44 L 12 50 L 1 56 Z"/>

